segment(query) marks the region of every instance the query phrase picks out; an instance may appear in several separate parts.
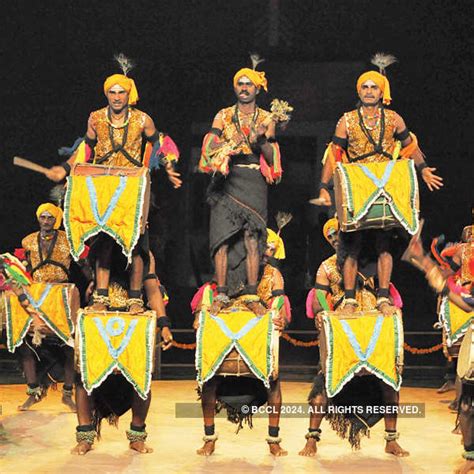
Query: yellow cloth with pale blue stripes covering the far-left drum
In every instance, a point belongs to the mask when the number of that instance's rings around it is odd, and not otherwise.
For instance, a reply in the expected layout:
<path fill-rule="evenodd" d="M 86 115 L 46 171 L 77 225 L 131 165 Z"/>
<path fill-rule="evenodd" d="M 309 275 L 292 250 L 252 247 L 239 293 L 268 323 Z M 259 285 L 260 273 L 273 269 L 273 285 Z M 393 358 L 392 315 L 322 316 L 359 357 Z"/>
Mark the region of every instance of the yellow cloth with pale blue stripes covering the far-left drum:
<path fill-rule="evenodd" d="M 16 295 L 12 293 L 5 296 L 8 350 L 14 352 L 23 342 L 31 323 L 38 327 L 46 324 L 60 339 L 67 342 L 74 329 L 68 288 L 65 285 L 33 283 L 25 287 L 24 291 L 29 295 L 30 304 L 36 306 L 38 321 L 35 323 L 34 318 L 25 311 Z"/>

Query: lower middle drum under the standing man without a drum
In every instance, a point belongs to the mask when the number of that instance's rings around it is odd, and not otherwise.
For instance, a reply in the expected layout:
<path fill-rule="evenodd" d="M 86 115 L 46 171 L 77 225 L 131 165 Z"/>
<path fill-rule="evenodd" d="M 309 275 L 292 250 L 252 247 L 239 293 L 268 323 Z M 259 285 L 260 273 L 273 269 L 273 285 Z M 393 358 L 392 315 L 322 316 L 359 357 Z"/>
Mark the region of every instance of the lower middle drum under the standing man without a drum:
<path fill-rule="evenodd" d="M 214 316 L 199 315 L 196 368 L 200 385 L 215 375 L 255 377 L 266 386 L 278 378 L 280 333 L 275 310 L 257 316 L 239 301 Z"/>

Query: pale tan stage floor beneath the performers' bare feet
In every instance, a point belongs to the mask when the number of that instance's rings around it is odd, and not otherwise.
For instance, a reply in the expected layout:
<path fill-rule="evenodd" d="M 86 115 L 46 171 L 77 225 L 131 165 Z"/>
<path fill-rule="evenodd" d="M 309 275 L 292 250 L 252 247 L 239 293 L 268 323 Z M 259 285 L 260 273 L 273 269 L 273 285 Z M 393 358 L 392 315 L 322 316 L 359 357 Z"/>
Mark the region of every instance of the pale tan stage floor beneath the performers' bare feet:
<path fill-rule="evenodd" d="M 127 413 L 120 419 L 119 429 L 103 423 L 102 439 L 96 441 L 93 451 L 73 456 L 69 450 L 75 444 L 76 416 L 65 412 L 60 392 L 50 392 L 33 410 L 20 413 L 16 407 L 25 399 L 25 386 L 2 385 L 1 472 L 451 473 L 462 464 L 461 436 L 451 434 L 455 415 L 447 408 L 453 392 L 438 395 L 434 389 L 402 388 L 402 402 L 426 404 L 425 418 L 399 420 L 400 444 L 411 453 L 407 458 L 384 453 L 383 422 L 371 430 L 370 439 L 362 440 L 362 449 L 353 452 L 349 443 L 339 439 L 323 421 L 317 456 L 298 456 L 305 443 L 308 419 L 286 417 L 280 424 L 286 457 L 273 458 L 268 453 L 265 418 L 255 419 L 252 430 L 245 427 L 238 435 L 235 425 L 219 418 L 216 452 L 203 458 L 195 454 L 202 444 L 201 419 L 175 418 L 176 402 L 196 402 L 195 388 L 193 381 L 153 382 L 147 431 L 154 453 L 138 454 L 128 449 L 124 433 L 130 422 Z M 309 383 L 283 382 L 283 400 L 303 403 L 309 389 Z"/>

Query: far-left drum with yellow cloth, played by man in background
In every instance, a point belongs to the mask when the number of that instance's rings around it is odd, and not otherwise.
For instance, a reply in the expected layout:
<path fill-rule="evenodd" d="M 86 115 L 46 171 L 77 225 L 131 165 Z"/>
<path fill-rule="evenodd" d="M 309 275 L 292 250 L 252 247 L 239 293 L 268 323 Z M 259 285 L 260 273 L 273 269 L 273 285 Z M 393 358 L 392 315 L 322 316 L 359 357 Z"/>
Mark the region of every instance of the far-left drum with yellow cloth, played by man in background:
<path fill-rule="evenodd" d="M 71 347 L 80 306 L 79 291 L 72 283 L 32 283 L 24 287 L 31 312 L 27 312 L 13 292 L 5 292 L 7 348 L 22 344 L 26 334 L 40 344 L 44 336 L 57 336 Z"/>

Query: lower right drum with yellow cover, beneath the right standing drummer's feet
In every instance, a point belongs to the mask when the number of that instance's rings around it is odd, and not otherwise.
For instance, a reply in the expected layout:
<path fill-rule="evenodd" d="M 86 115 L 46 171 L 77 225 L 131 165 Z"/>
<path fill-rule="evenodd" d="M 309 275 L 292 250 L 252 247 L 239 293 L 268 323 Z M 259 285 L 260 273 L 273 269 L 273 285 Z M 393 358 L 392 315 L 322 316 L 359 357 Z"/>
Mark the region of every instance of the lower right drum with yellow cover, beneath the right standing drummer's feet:
<path fill-rule="evenodd" d="M 354 377 L 374 374 L 394 390 L 401 386 L 403 323 L 400 310 L 393 316 L 378 311 L 351 315 L 324 311 L 320 360 L 326 392 L 334 397 Z"/>

